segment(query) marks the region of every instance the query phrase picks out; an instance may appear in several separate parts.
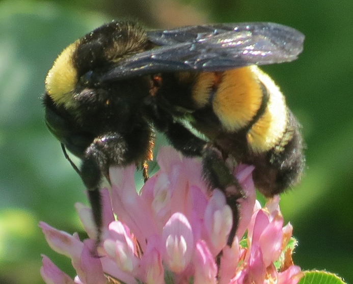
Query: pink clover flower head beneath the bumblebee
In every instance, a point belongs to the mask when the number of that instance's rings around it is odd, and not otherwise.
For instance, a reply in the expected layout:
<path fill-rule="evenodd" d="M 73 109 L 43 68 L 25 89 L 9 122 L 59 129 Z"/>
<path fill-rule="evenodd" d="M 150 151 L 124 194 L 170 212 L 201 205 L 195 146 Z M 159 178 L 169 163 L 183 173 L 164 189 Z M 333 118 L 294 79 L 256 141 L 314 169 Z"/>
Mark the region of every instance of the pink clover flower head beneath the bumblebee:
<path fill-rule="evenodd" d="M 134 166 L 111 167 L 112 188 L 101 190 L 103 224 L 99 258 L 92 254 L 95 228 L 92 212 L 76 209 L 90 239 L 80 241 L 40 223 L 50 247 L 72 260 L 77 271 L 71 279 L 43 257 L 46 283 L 290 283 L 301 269 L 291 261 L 292 227 L 283 227 L 279 197 L 264 208 L 256 201 L 253 166 L 234 171 L 246 198 L 239 201 L 241 216 L 232 246 L 231 208 L 222 191 L 209 191 L 198 159 L 162 148 L 160 170 L 135 188 Z M 118 219 L 114 219 L 114 214 Z M 246 236 L 243 236 L 246 233 Z"/>

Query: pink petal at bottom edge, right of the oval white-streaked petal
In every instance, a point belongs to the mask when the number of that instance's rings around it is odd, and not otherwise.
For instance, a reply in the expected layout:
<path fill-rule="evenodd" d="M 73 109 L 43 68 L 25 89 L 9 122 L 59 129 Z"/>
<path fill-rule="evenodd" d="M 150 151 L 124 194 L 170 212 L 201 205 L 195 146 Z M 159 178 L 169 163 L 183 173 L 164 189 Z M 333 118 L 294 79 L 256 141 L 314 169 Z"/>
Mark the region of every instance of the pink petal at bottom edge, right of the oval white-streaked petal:
<path fill-rule="evenodd" d="M 195 266 L 194 284 L 215 284 L 217 265 L 214 262 L 212 253 L 203 240 L 199 240 L 196 243 L 193 260 Z"/>

